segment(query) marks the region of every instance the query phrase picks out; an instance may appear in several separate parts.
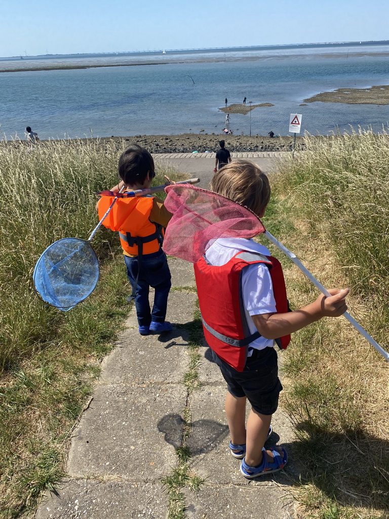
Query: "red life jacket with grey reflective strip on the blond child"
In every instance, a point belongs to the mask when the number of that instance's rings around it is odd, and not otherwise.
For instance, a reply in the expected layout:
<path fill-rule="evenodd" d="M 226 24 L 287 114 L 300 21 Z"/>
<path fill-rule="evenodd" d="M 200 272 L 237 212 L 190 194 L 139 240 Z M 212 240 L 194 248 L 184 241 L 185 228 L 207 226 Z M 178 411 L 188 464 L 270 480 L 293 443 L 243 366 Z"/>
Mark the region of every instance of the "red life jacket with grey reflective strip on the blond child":
<path fill-rule="evenodd" d="M 210 265 L 204 257 L 195 263 L 206 342 L 221 359 L 240 372 L 246 364 L 248 345 L 261 336 L 259 332 L 249 332 L 242 297 L 242 269 L 255 263 L 263 263 L 269 268 L 276 312 L 286 313 L 285 280 L 281 264 L 275 257 L 242 251 L 225 265 Z M 289 342 L 290 335 L 276 339 L 282 349 Z"/>

